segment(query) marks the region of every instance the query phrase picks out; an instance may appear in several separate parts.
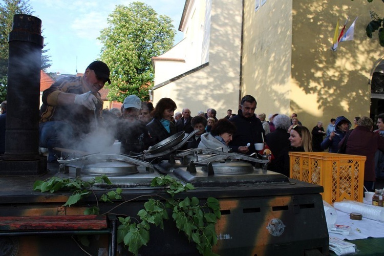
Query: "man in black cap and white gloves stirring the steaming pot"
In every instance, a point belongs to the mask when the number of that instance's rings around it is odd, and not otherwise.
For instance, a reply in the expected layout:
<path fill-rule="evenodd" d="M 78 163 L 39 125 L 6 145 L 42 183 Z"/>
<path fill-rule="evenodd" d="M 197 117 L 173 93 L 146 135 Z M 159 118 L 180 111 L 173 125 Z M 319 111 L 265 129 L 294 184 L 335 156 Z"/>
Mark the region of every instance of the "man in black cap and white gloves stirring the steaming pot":
<path fill-rule="evenodd" d="M 61 78 L 42 93 L 39 146 L 48 148 L 49 163 L 57 160 L 54 147 L 75 149 L 74 142 L 102 125 L 99 91 L 106 82 L 111 84 L 110 69 L 97 60 L 82 77 Z"/>

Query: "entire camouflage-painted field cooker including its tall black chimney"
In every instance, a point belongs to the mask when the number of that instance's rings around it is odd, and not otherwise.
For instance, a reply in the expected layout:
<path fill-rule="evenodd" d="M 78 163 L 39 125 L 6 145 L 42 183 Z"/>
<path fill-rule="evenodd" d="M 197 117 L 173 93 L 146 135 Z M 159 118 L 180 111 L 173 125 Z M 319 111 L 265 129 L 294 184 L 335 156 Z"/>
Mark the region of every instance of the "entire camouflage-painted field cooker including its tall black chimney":
<path fill-rule="evenodd" d="M 114 186 L 123 188 L 122 196 L 126 202 L 97 202 L 101 212 L 114 208 L 114 214 L 136 218 L 148 198 L 169 196 L 163 188 L 150 186 L 154 177 L 168 174 L 196 187 L 179 197 L 196 196 L 200 203 L 205 203 L 208 197 L 219 200 L 222 216 L 216 225 L 218 244 L 213 248 L 216 253 L 259 256 L 328 254 L 328 231 L 319 194 L 323 187 L 269 172 L 264 166 L 267 161 L 256 156 L 223 154 L 220 148 L 178 152 L 194 136 L 193 133 L 185 139 L 183 134 L 171 136 L 136 156 L 68 154 L 69 151 L 65 150 L 59 160 L 60 167 L 48 164 L 47 171 L 47 159 L 40 157 L 37 150 L 39 116 L 35 111 L 39 104 L 40 59 L 44 45 L 41 20 L 30 15 L 15 15 L 9 38 L 9 111 L 6 153 L 0 162 L 3 175 L 0 179 L 0 217 L 13 218 L 10 225 L 17 225 L 21 217 L 37 217 L 39 221 L 45 217 L 64 217 L 61 220 L 69 222 L 70 217 L 81 216 L 84 209 L 96 204 L 96 199 L 90 196 L 71 207 L 63 206 L 71 192 L 51 194 L 34 191 L 32 187 L 36 180 L 52 176 L 79 176 L 87 180 L 99 174 L 109 175 Z M 27 57 L 28 61 L 18 61 Z M 29 111 L 18 111 L 20 105 Z M 95 186 L 93 193 L 100 197 L 110 189 L 114 187 Z M 41 222 L 37 224 L 41 225 Z M 0 253 L 84 255 L 79 243 L 71 236 L 88 234 L 91 243 L 87 251 L 91 255 L 105 255 L 108 244 L 110 248 L 112 244 L 109 254 L 115 255 L 116 241 L 113 238 L 109 241 L 110 234 L 99 232 L 109 230 L 68 231 L 58 229 L 55 223 L 49 225 L 54 229 L 32 232 L 27 227 L 7 229 L 3 223 L 5 230 L 0 231 Z M 195 245 L 187 241 L 175 224 L 166 221 L 164 230 L 151 227 L 150 242 L 140 249 L 140 254 L 198 253 Z"/>

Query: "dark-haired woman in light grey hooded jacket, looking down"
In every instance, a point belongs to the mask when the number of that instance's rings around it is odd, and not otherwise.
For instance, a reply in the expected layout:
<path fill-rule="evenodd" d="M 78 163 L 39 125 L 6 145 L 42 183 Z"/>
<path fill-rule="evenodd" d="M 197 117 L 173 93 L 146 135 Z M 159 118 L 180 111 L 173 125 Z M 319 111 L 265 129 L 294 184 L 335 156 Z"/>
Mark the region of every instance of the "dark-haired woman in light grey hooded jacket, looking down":
<path fill-rule="evenodd" d="M 198 148 L 212 148 L 228 153 L 228 143 L 232 140 L 232 135 L 236 132 L 236 126 L 227 119 L 217 121 L 210 133 L 201 135 Z"/>

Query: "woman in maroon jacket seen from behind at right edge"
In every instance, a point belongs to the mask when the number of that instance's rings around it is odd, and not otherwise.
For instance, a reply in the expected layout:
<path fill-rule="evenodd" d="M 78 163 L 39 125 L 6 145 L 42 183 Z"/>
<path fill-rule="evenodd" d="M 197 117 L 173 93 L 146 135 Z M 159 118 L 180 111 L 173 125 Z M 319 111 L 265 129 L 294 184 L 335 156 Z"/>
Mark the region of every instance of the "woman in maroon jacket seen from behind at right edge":
<path fill-rule="evenodd" d="M 362 116 L 357 124 L 354 130 L 344 136 L 338 146 L 341 147 L 347 140 L 346 154 L 367 157 L 364 165 L 364 186 L 368 190 L 374 191 L 376 180 L 374 157 L 378 149 L 384 151 L 384 137 L 372 132 L 373 120 L 367 116 Z"/>

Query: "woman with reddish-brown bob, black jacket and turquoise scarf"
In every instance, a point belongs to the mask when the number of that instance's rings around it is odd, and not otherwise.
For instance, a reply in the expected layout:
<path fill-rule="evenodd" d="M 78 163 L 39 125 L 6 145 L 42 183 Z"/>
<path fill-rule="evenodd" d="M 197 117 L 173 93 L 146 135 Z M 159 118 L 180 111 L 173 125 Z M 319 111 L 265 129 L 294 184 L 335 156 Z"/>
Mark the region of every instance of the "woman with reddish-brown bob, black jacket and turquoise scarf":
<path fill-rule="evenodd" d="M 176 134 L 176 126 L 171 121 L 175 110 L 176 103 L 170 98 L 162 98 L 157 102 L 155 109 L 151 113 L 153 119 L 146 125 L 152 138 L 151 145 L 155 145 Z"/>

